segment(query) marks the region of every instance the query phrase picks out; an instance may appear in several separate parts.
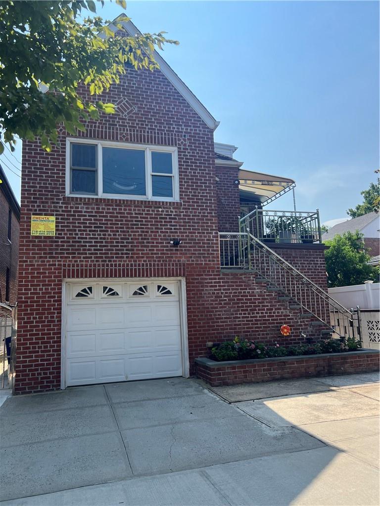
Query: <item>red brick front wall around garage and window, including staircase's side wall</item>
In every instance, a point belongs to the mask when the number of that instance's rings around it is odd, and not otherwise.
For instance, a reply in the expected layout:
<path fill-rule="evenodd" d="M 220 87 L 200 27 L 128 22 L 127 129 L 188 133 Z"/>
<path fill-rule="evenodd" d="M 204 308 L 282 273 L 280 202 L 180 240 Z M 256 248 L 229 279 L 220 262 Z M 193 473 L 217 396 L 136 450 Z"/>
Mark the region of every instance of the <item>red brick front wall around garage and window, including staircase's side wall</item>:
<path fill-rule="evenodd" d="M 253 274 L 220 273 L 212 131 L 159 71 L 130 70 L 99 98 L 128 99 L 131 112 L 89 121 L 79 136 L 177 146 L 180 202 L 66 197 L 64 131 L 50 154 L 23 142 L 16 392 L 60 387 L 65 278 L 185 277 L 192 372 L 208 341 L 236 333 L 276 339 L 284 320 L 296 339 L 309 325 L 297 311 L 256 285 Z M 31 237 L 31 214 L 54 215 L 56 236 Z M 182 244 L 173 248 L 171 237 Z M 306 273 L 319 275 L 322 265 L 302 255 Z"/>

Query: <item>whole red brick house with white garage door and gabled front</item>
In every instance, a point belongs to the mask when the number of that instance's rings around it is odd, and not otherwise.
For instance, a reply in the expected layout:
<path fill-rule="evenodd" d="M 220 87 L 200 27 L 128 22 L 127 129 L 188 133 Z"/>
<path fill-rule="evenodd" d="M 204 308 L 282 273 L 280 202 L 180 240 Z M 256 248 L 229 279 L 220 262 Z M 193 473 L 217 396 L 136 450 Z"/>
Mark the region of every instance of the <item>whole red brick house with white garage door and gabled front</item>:
<path fill-rule="evenodd" d="M 209 343 L 236 334 L 289 344 L 331 332 L 328 309 L 268 270 L 324 293 L 318 213 L 265 211 L 294 181 L 243 171 L 156 58 L 160 70 L 127 69 L 101 97 L 115 115 L 77 136 L 61 128 L 51 153 L 23 142 L 16 393 L 187 377 Z M 54 216 L 55 235 L 31 235 L 31 216 Z"/>

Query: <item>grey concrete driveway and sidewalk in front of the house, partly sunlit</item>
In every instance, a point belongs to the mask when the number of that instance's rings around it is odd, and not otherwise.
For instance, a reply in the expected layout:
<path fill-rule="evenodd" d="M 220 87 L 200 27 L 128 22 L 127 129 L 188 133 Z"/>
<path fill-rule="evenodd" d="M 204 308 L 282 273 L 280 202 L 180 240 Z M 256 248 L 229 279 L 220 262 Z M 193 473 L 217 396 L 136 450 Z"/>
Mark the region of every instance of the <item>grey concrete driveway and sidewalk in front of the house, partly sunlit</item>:
<path fill-rule="evenodd" d="M 0 408 L 1 499 L 377 504 L 377 390 L 362 376 L 300 383 L 291 395 L 280 382 L 282 396 L 270 399 L 257 393 L 265 385 L 250 385 L 230 403 L 184 378 L 11 397 Z"/>

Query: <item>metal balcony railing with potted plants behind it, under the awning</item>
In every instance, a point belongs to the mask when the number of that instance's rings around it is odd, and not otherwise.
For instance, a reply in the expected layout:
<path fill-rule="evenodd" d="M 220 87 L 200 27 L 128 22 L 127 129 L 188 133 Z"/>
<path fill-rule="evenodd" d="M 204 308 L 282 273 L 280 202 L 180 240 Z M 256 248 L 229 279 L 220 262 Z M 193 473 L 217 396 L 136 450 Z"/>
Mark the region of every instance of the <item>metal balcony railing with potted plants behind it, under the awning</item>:
<path fill-rule="evenodd" d="M 319 211 L 254 209 L 240 219 L 240 230 L 264 242 L 312 244 L 321 241 Z"/>

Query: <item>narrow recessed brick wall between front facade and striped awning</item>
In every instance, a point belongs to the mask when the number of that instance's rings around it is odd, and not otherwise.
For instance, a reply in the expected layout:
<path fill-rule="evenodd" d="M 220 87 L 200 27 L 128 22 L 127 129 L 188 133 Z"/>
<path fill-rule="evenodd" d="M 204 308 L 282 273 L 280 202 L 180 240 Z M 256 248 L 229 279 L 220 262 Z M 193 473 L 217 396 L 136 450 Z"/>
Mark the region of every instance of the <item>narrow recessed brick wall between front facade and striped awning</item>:
<path fill-rule="evenodd" d="M 216 165 L 219 232 L 239 232 L 240 197 L 238 167 Z"/>

